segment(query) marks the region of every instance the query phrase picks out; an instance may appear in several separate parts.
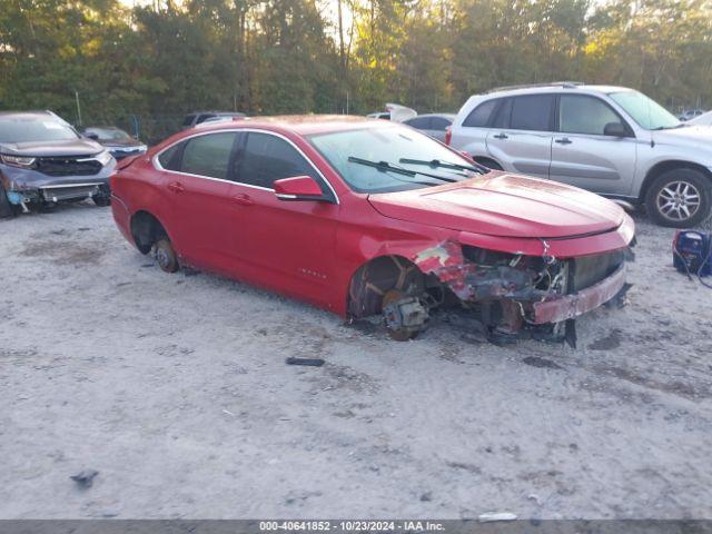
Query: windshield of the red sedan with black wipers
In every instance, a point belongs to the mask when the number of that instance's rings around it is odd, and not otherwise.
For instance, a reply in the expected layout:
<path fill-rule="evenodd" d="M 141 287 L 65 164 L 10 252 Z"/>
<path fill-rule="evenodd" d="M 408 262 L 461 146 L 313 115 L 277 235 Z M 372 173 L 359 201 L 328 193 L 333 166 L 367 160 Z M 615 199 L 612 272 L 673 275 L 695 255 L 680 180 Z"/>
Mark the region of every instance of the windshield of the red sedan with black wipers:
<path fill-rule="evenodd" d="M 424 167 L 414 162 L 404 162 L 411 159 L 413 161 L 437 160 L 466 167 L 473 165 L 439 142 L 403 126 L 316 134 L 308 139 L 357 192 L 403 191 L 477 176 L 475 172 L 463 169 Z M 368 166 L 363 161 L 388 165 Z M 405 169 L 406 172 L 388 170 L 388 166 L 398 170 Z M 415 172 L 417 172 L 416 177 L 408 176 Z"/>

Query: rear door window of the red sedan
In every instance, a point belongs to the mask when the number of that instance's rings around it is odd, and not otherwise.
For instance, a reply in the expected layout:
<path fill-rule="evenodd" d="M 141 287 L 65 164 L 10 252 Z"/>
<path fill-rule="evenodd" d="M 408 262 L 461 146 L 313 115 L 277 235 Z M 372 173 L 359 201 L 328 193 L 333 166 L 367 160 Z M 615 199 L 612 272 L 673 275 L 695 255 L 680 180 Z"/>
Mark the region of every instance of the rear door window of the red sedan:
<path fill-rule="evenodd" d="M 190 175 L 228 179 L 236 136 L 234 131 L 224 131 L 189 139 L 182 151 L 180 170 Z"/>

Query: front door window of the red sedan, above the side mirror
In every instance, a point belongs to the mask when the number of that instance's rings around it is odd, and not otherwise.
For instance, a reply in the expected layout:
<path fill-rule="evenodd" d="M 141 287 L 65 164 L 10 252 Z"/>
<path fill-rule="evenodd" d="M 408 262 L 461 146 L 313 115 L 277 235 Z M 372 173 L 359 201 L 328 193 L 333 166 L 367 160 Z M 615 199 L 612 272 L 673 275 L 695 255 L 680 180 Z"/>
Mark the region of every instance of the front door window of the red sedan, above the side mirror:
<path fill-rule="evenodd" d="M 277 136 L 250 131 L 238 154 L 236 181 L 268 189 L 273 189 L 275 180 L 295 176 L 310 176 L 322 181 L 307 160 Z"/>

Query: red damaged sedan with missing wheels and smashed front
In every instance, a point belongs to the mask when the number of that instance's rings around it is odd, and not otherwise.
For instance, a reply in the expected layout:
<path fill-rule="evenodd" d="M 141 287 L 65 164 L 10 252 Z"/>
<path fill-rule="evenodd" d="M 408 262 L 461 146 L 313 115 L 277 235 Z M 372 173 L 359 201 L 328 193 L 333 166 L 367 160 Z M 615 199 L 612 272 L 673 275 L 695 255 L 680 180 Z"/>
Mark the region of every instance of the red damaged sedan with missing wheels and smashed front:
<path fill-rule="evenodd" d="M 602 197 L 354 117 L 188 130 L 120 162 L 111 191 L 121 233 L 165 271 L 219 273 L 350 318 L 383 314 L 396 339 L 453 306 L 498 339 L 563 339 L 625 290 L 634 240 L 632 219 Z"/>

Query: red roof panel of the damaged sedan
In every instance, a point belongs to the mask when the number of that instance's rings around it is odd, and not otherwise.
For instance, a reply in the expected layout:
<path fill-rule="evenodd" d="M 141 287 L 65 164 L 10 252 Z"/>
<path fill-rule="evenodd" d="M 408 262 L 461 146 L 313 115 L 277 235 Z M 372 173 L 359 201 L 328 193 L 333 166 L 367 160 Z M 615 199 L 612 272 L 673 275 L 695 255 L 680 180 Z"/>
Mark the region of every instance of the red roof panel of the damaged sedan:
<path fill-rule="evenodd" d="M 332 131 L 357 130 L 362 128 L 392 128 L 398 122 L 369 119 L 354 115 L 286 115 L 276 117 L 246 117 L 243 120 L 205 125 L 201 131 L 228 130 L 235 128 L 264 128 L 274 131 L 289 131 L 299 136 L 327 134 Z"/>

